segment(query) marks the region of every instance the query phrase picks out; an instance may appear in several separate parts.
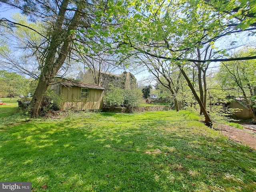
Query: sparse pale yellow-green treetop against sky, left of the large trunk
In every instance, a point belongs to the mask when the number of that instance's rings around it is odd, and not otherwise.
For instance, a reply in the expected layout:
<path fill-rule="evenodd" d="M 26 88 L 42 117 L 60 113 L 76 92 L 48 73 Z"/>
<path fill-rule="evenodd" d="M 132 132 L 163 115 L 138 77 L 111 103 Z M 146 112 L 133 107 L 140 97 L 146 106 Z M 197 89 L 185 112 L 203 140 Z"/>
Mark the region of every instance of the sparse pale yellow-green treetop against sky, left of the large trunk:
<path fill-rule="evenodd" d="M 1 44 L 8 50 L 0 52 L 0 65 L 8 71 L 37 79 L 43 52 L 40 44 L 42 36 L 46 35 L 44 26 L 39 21 L 29 22 L 26 16 L 18 13 L 12 15 L 12 19 L 19 25 L 14 26 L 4 18 L 0 20 L 3 26 Z"/>

